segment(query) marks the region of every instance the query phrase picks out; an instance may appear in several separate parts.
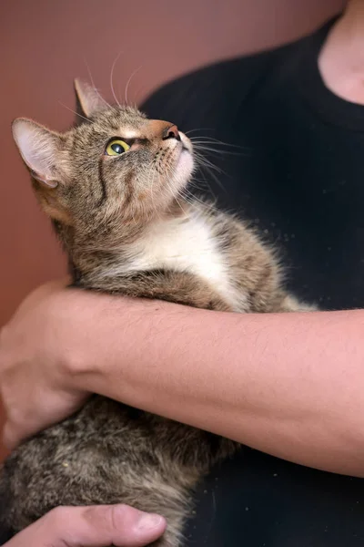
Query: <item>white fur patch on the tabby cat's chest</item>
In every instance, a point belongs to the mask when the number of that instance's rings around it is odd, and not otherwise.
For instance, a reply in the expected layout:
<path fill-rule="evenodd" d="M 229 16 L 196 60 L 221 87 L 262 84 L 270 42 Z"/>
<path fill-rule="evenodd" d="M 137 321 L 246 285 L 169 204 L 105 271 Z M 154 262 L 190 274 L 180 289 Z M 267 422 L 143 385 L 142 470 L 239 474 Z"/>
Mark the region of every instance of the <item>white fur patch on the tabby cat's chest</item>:
<path fill-rule="evenodd" d="M 242 304 L 241 295 L 229 281 L 226 259 L 203 216 L 156 222 L 133 244 L 132 256 L 120 265 L 119 273 L 153 269 L 188 272 L 205 279 L 237 311 Z"/>

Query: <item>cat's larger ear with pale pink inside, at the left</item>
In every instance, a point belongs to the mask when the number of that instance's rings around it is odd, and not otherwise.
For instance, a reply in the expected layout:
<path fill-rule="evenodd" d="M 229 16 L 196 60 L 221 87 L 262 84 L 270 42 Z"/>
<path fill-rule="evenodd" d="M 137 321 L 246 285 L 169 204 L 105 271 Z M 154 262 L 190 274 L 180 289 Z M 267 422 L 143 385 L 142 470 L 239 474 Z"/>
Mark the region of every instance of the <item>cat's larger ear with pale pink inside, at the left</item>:
<path fill-rule="evenodd" d="M 36 181 L 47 188 L 56 188 L 59 171 L 61 139 L 31 119 L 18 118 L 12 125 L 19 152 Z"/>

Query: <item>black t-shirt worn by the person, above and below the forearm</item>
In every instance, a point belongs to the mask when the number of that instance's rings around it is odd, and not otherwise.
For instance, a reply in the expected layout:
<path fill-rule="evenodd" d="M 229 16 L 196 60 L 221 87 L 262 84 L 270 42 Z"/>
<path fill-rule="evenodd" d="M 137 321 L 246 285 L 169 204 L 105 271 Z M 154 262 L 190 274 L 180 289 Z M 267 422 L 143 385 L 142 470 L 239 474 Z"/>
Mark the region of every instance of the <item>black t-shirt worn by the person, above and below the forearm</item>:
<path fill-rule="evenodd" d="M 205 174 L 210 191 L 277 243 L 291 291 L 341 309 L 364 307 L 364 107 L 335 96 L 320 77 L 332 23 L 180 77 L 143 109 L 198 129 L 189 136 L 242 147 L 213 145 L 222 153 L 207 157 L 225 172 L 215 171 L 218 181 Z M 201 485 L 196 513 L 190 546 L 356 547 L 364 542 L 364 482 L 244 449 Z"/>

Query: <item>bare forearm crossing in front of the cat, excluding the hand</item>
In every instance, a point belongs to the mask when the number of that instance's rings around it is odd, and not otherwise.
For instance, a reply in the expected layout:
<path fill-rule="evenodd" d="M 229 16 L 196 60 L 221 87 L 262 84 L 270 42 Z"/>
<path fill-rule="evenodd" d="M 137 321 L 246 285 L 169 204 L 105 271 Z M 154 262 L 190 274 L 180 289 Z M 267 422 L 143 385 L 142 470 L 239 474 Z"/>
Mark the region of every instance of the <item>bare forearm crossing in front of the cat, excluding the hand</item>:
<path fill-rule="evenodd" d="M 84 297 L 94 302 L 71 346 L 77 387 L 364 476 L 364 311 L 238 315 Z"/>

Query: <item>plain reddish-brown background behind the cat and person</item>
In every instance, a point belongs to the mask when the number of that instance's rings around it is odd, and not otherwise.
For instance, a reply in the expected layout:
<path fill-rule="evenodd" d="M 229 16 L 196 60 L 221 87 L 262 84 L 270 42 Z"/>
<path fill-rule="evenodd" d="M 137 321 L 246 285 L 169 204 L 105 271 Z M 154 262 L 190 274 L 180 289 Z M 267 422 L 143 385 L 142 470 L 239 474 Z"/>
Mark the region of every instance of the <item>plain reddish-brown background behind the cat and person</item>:
<path fill-rule="evenodd" d="M 303 36 L 344 0 L 6 0 L 0 1 L 0 326 L 37 284 L 65 272 L 38 211 L 10 123 L 34 118 L 66 129 L 72 80 L 87 77 L 112 98 L 129 87 L 138 102 L 192 67 Z M 183 105 L 181 105 L 183 108 Z"/>

